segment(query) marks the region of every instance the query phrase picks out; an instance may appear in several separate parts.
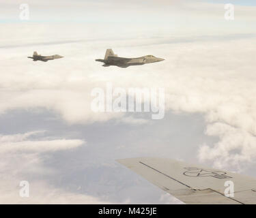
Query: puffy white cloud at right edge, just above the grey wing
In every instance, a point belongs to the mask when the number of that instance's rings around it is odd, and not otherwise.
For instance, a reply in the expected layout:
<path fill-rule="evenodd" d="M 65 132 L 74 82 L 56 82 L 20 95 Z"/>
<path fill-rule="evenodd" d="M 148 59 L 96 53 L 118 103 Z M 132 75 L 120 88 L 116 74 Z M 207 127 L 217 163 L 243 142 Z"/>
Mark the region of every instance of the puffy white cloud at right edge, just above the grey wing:
<path fill-rule="evenodd" d="M 206 134 L 220 139 L 214 147 L 201 146 L 199 158 L 202 161 L 214 160 L 216 168 L 234 167 L 236 170 L 255 161 L 256 137 L 250 132 L 225 123 L 214 123 L 208 125 Z"/>

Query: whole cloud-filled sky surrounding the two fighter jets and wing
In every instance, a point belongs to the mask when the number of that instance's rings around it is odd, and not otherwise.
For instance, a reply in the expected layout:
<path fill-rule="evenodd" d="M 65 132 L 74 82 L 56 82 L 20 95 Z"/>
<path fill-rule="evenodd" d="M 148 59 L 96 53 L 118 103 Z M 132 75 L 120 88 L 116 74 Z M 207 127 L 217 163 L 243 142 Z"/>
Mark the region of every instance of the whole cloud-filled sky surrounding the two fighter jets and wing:
<path fill-rule="evenodd" d="M 115 161 L 126 157 L 256 176 L 253 1 L 27 0 L 20 20 L 22 3 L 0 0 L 1 204 L 182 204 Z M 165 61 L 102 67 L 106 48 Z M 165 117 L 92 111 L 109 82 L 165 89 Z"/>

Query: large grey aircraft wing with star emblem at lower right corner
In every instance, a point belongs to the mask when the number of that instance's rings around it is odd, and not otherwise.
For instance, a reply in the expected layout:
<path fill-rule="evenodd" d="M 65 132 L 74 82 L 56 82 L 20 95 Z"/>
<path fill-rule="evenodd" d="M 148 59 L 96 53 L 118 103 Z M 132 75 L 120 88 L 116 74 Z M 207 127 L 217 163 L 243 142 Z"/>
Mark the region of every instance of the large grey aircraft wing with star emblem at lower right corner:
<path fill-rule="evenodd" d="M 255 178 L 171 159 L 117 161 L 186 204 L 256 204 Z"/>

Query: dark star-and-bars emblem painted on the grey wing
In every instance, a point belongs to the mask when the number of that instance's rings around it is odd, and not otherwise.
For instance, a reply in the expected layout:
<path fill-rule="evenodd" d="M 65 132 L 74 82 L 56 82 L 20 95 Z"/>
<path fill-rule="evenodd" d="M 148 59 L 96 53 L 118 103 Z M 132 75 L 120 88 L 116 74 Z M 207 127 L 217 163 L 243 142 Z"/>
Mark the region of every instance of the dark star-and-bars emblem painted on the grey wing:
<path fill-rule="evenodd" d="M 214 178 L 232 178 L 231 176 L 227 176 L 226 172 L 220 170 L 205 170 L 202 168 L 184 168 L 186 171 L 183 173 L 185 176 L 192 177 L 203 177 L 203 176 L 212 176 Z"/>

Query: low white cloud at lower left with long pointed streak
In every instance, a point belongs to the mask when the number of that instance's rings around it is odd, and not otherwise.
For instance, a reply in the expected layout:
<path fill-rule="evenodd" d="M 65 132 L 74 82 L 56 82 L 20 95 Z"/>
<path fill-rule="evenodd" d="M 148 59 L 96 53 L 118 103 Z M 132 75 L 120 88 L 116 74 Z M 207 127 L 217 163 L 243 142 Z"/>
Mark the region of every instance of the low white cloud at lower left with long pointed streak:
<path fill-rule="evenodd" d="M 55 174 L 53 169 L 44 166 L 39 153 L 73 149 L 85 143 L 83 140 L 65 139 L 29 140 L 42 132 L 0 136 L 0 204 L 109 204 L 92 196 L 53 187 L 37 179 L 39 175 Z M 29 176 L 31 173 L 34 178 Z M 24 180 L 29 182 L 29 198 L 19 196 L 19 184 Z"/>

